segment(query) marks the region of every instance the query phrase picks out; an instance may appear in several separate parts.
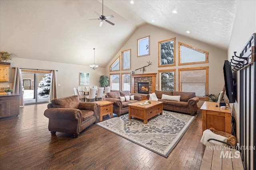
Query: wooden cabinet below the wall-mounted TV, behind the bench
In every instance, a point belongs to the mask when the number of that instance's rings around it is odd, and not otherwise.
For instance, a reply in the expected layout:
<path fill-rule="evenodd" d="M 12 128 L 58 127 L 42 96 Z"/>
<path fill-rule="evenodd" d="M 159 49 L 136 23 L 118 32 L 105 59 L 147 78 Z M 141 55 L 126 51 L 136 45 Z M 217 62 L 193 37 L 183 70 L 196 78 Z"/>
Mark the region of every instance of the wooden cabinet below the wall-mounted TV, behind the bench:
<path fill-rule="evenodd" d="M 216 107 L 215 105 L 218 105 Z M 229 108 L 220 109 L 216 102 L 204 102 L 202 107 L 202 131 L 213 127 L 218 131 L 231 134 L 231 111 Z"/>

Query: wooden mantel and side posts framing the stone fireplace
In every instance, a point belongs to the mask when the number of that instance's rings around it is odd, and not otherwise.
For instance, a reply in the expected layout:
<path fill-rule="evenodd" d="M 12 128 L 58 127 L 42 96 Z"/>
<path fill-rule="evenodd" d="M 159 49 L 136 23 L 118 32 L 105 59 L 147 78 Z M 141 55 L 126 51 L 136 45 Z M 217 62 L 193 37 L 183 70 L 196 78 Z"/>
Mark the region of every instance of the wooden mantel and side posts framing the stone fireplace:
<path fill-rule="evenodd" d="M 131 74 L 131 76 L 132 76 L 132 93 L 138 93 L 138 91 L 135 90 L 135 86 L 138 86 L 138 84 L 135 84 L 134 79 L 142 78 L 142 77 L 151 77 L 152 78 L 152 80 L 150 80 L 149 83 L 150 83 L 150 87 L 152 86 L 152 90 L 150 90 L 150 93 L 153 93 L 156 90 L 156 74 L 157 73 Z"/>

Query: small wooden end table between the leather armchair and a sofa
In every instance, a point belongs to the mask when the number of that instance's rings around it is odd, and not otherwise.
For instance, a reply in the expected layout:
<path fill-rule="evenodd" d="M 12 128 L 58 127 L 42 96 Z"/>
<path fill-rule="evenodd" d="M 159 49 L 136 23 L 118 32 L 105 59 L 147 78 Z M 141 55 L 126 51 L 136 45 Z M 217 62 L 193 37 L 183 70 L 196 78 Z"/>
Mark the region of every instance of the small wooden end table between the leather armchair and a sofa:
<path fill-rule="evenodd" d="M 98 113 L 100 113 L 100 121 L 104 115 L 110 114 L 110 117 L 113 117 L 113 103 L 105 100 L 95 102 L 98 104 Z"/>

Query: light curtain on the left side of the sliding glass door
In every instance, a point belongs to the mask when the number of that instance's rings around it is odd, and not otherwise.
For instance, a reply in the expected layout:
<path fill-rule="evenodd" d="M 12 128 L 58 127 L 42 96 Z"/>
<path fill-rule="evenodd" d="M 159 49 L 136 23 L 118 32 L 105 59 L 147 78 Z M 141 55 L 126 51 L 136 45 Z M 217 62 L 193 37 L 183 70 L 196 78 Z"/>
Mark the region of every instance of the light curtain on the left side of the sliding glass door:
<path fill-rule="evenodd" d="M 20 106 L 24 106 L 23 93 L 22 93 L 21 68 L 19 67 L 15 68 L 12 91 L 15 94 L 20 94 Z"/>

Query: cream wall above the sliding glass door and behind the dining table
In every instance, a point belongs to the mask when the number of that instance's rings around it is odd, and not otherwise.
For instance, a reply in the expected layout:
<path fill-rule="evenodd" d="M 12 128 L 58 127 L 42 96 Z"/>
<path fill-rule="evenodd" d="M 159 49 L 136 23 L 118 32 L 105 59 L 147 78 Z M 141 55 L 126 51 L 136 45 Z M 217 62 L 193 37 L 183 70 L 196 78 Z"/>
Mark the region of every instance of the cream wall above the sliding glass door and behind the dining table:
<path fill-rule="evenodd" d="M 58 70 L 56 73 L 57 84 L 60 84 L 60 86 L 57 86 L 58 98 L 72 96 L 74 94 L 73 88 L 78 87 L 80 84 L 80 72 L 90 74 L 89 86 L 99 87 L 100 76 L 105 75 L 104 68 L 93 70 L 90 66 L 84 65 L 21 59 L 17 57 L 8 62 L 11 63 L 9 82 L 1 82 L 0 87 L 7 87 L 7 85 L 10 85 L 10 88 L 12 87 L 14 77 L 14 69 L 12 67 Z"/>

